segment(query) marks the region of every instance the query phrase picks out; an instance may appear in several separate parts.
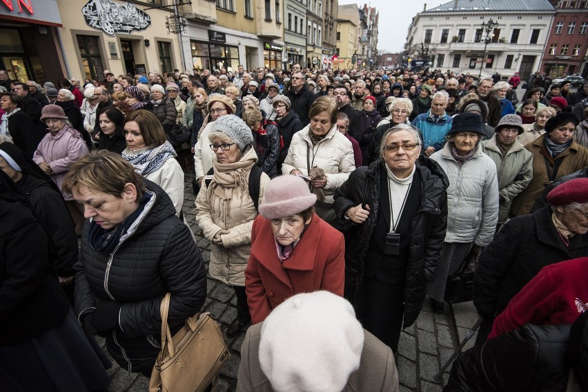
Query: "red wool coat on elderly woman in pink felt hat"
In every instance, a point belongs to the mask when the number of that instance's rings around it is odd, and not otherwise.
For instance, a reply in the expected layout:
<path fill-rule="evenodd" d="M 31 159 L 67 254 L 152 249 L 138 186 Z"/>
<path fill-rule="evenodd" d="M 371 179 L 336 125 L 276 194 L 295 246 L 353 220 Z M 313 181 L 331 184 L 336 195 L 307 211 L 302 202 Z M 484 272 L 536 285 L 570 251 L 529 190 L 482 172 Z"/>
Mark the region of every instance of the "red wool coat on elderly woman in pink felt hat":
<path fill-rule="evenodd" d="M 253 221 L 245 289 L 252 324 L 262 322 L 284 300 L 298 293 L 327 290 L 343 296 L 343 234 L 313 214 L 290 258 L 280 262 L 269 220 Z"/>

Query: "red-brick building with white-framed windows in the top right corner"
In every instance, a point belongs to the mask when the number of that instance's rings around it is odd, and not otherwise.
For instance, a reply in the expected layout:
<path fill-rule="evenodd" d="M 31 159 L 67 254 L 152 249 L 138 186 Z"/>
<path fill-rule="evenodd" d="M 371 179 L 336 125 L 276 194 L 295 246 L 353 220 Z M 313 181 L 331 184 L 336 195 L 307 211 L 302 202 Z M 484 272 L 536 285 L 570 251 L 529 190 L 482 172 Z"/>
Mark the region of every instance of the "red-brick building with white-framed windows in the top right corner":
<path fill-rule="evenodd" d="M 556 0 L 552 4 L 557 12 L 540 69 L 551 78 L 588 77 L 588 1 Z"/>

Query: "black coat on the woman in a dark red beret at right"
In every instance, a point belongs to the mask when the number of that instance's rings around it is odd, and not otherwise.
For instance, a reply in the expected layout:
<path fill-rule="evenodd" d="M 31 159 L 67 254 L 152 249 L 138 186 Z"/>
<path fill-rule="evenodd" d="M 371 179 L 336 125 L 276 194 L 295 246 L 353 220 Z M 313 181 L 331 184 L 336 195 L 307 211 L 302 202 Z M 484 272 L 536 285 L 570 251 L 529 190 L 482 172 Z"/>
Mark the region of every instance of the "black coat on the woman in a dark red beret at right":
<path fill-rule="evenodd" d="M 509 220 L 480 254 L 473 280 L 473 305 L 497 315 L 535 277 L 555 262 L 588 255 L 588 234 L 571 238 L 565 247 L 551 222 L 551 208 Z"/>

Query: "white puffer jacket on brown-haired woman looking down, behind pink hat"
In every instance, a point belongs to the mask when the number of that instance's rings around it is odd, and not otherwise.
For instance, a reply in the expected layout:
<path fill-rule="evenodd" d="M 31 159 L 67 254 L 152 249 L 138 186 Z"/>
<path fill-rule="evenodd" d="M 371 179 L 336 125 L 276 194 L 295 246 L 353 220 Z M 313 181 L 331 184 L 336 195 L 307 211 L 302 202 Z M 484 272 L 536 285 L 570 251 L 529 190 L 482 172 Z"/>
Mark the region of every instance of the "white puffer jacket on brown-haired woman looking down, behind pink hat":
<path fill-rule="evenodd" d="M 320 167 L 326 175 L 324 201 L 333 204 L 335 188 L 343 185 L 349 174 L 355 170 L 353 147 L 349 139 L 337 131 L 336 125 L 333 125 L 325 138 L 313 147 L 308 136 L 310 129 L 309 124 L 294 134 L 288 155 L 282 164 L 282 173 L 290 174 L 294 169 L 298 169 L 304 176 L 308 176 L 308 163 L 310 167 Z M 308 160 L 307 152 L 310 152 Z"/>

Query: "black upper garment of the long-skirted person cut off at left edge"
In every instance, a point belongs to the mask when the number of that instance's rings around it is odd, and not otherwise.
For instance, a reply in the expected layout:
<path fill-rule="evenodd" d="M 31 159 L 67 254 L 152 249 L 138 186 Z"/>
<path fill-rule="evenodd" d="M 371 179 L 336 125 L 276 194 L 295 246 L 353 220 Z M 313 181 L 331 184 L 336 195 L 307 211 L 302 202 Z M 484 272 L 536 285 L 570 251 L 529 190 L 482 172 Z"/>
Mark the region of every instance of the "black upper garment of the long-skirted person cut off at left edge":
<path fill-rule="evenodd" d="M 69 302 L 48 269 L 47 237 L 31 210 L 0 198 L 0 222 L 0 345 L 5 345 L 61 322 Z"/>

